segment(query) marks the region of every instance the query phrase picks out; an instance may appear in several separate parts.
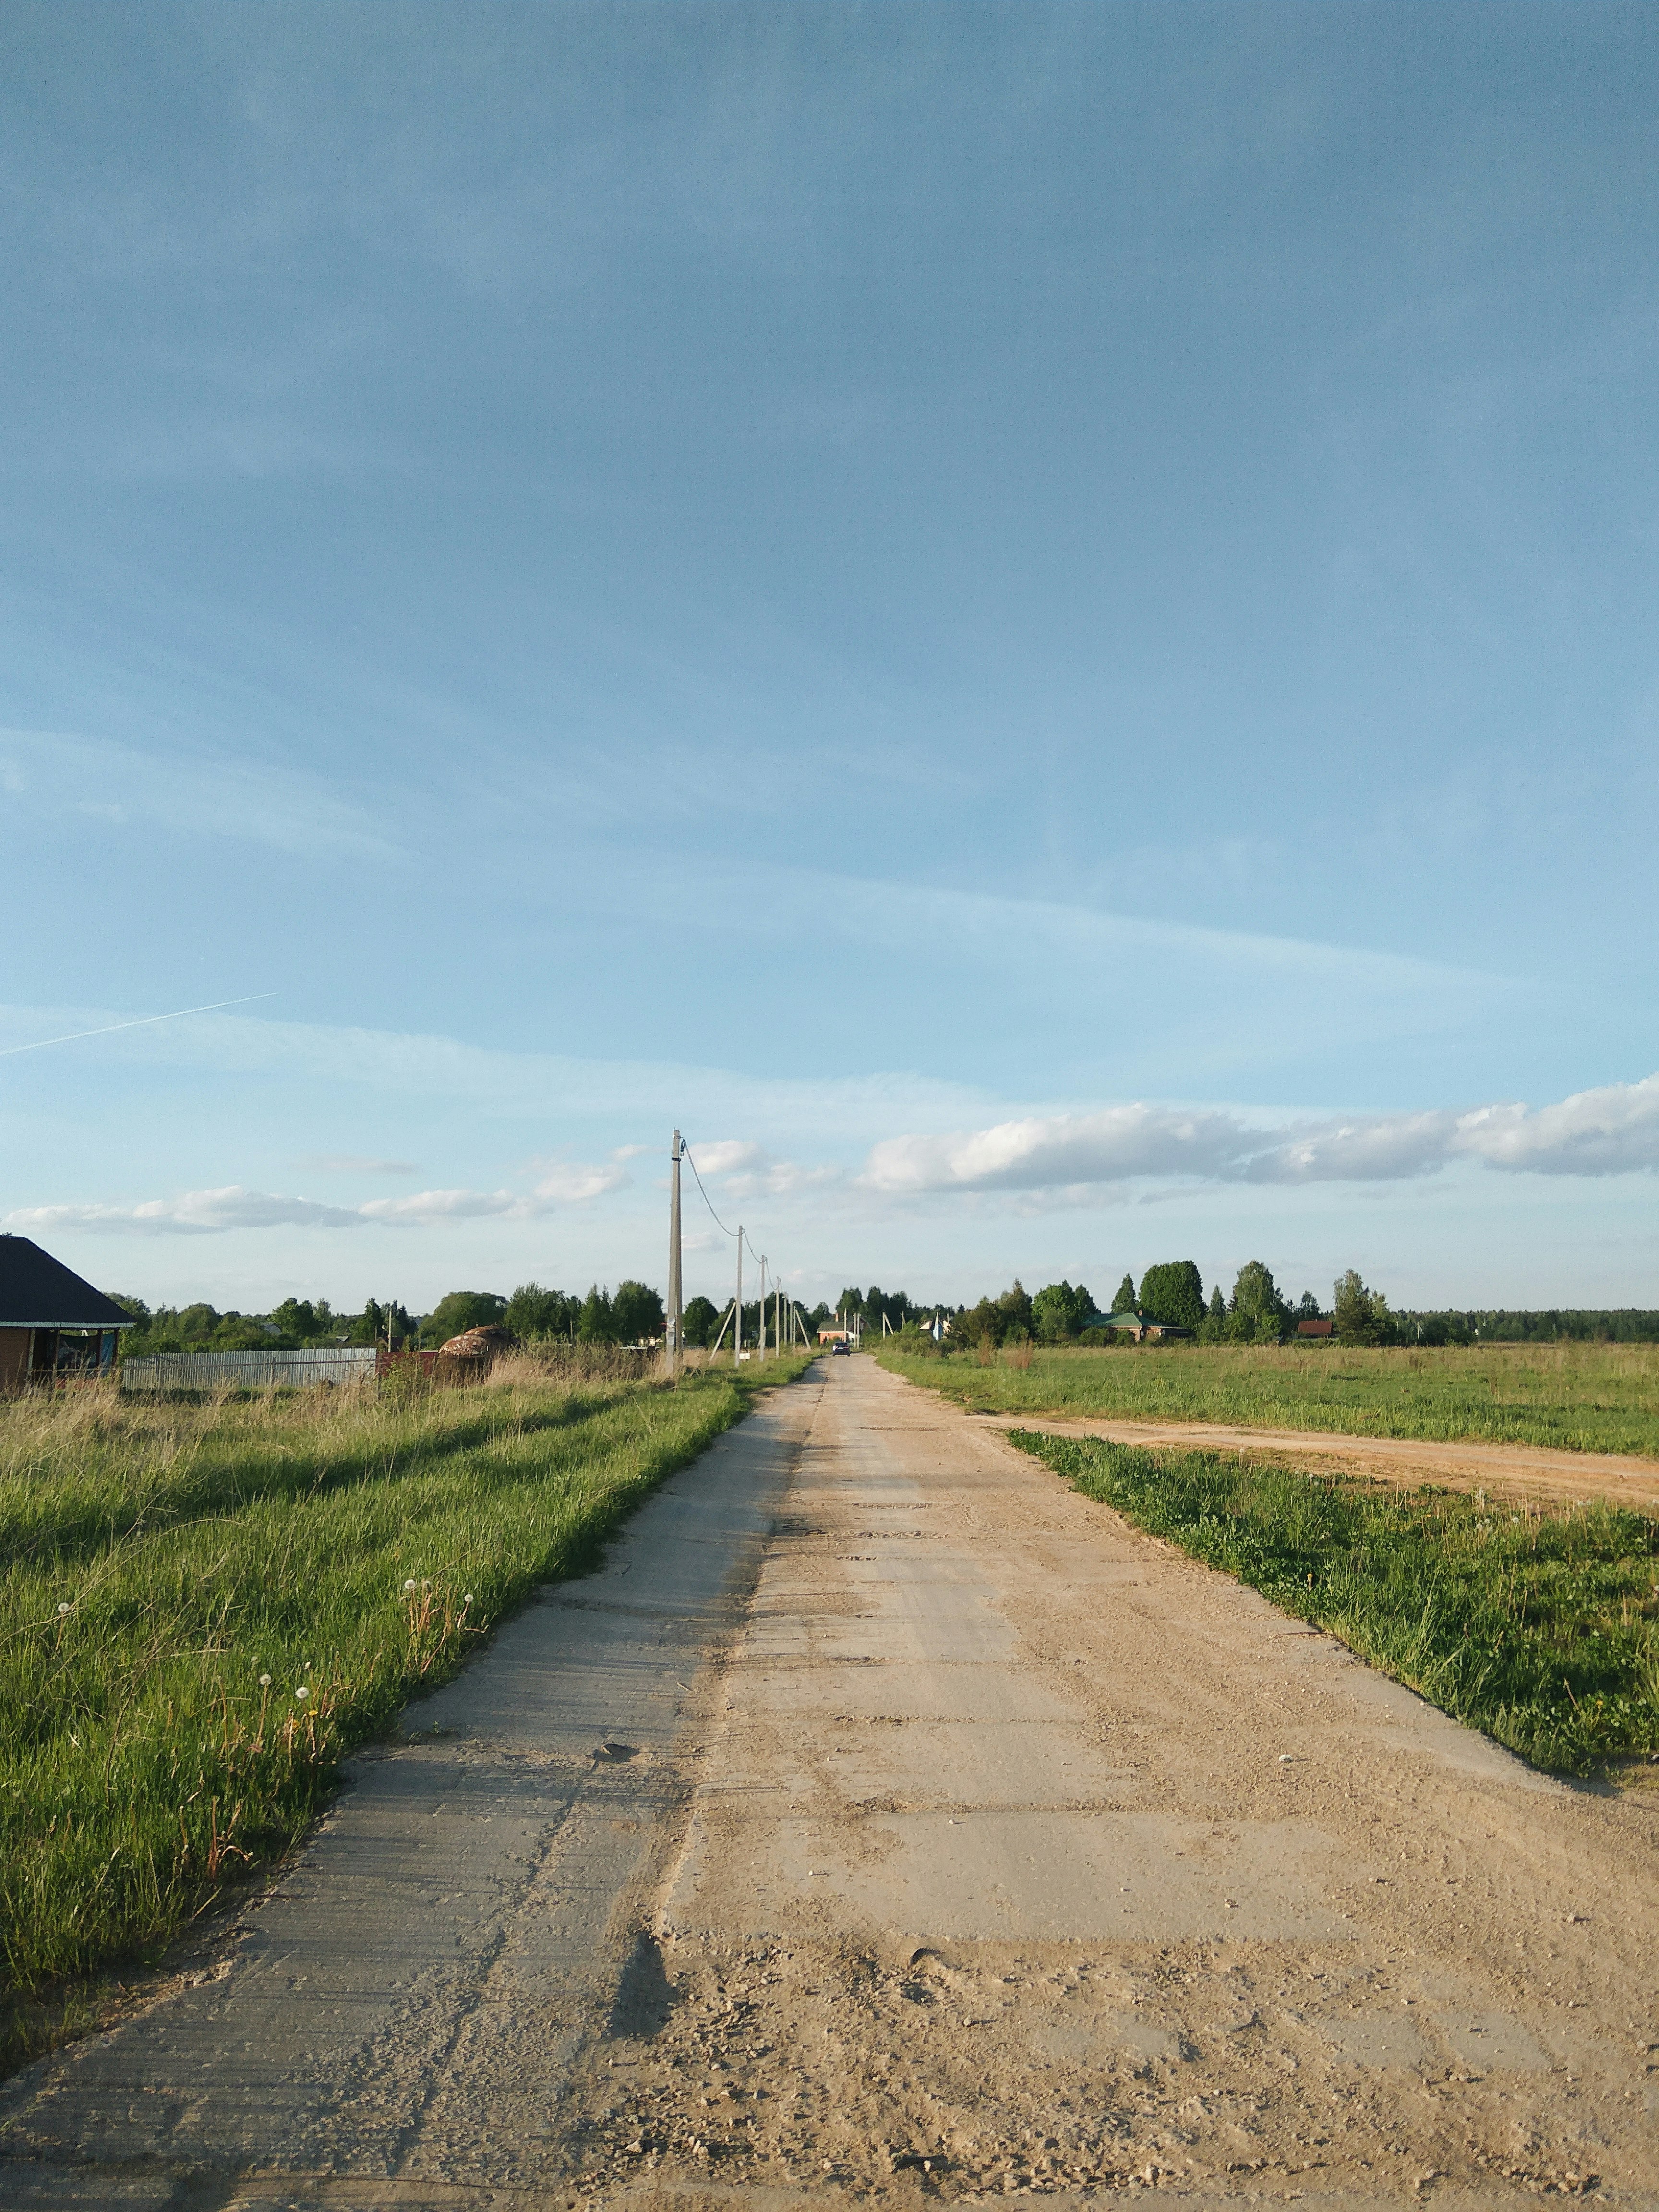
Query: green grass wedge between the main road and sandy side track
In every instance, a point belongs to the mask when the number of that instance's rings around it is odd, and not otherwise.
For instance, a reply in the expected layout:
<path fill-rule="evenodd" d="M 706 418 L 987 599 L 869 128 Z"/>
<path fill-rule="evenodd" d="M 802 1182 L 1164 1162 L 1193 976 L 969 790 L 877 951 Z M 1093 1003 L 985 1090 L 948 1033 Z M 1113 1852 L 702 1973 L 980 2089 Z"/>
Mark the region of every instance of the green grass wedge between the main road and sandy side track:
<path fill-rule="evenodd" d="M 1659 1752 L 1659 1522 L 1011 1431 L 1073 1489 L 1314 1621 L 1533 1765 Z"/>

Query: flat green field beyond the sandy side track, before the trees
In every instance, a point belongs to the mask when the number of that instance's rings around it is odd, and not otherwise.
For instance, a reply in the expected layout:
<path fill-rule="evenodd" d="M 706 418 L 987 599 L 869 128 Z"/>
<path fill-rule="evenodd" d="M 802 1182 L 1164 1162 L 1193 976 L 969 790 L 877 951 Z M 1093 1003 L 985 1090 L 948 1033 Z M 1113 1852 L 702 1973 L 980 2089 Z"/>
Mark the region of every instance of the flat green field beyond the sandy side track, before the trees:
<path fill-rule="evenodd" d="M 1340 1345 L 1159 1345 L 876 1354 L 883 1367 L 987 1413 L 1219 1420 L 1250 1429 L 1555 1444 L 1659 1458 L 1659 1345 L 1471 1345 L 1349 1352 Z"/>

